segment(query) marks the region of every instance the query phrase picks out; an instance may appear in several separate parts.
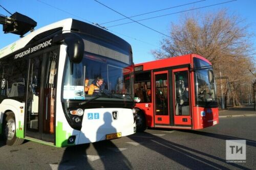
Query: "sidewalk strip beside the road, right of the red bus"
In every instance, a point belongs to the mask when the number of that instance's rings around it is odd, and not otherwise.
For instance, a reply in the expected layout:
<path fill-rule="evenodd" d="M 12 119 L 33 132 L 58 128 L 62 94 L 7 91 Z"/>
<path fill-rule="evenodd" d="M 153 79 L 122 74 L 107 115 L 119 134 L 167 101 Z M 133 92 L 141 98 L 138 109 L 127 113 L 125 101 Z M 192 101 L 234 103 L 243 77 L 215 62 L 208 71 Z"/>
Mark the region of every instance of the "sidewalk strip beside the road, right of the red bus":
<path fill-rule="evenodd" d="M 230 107 L 228 110 L 220 110 L 219 117 L 253 116 L 256 111 L 253 106 Z"/>

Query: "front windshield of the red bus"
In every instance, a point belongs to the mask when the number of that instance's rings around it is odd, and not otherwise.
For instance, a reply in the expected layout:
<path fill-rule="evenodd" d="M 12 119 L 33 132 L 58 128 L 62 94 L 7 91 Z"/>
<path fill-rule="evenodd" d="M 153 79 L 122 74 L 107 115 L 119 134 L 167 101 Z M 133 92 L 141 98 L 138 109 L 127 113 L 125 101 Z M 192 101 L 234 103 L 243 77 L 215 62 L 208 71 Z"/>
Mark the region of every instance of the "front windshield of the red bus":
<path fill-rule="evenodd" d="M 212 66 L 203 60 L 194 58 L 194 67 L 196 105 L 217 107 L 215 82 L 214 80 L 210 82 L 208 74 L 212 72 Z"/>

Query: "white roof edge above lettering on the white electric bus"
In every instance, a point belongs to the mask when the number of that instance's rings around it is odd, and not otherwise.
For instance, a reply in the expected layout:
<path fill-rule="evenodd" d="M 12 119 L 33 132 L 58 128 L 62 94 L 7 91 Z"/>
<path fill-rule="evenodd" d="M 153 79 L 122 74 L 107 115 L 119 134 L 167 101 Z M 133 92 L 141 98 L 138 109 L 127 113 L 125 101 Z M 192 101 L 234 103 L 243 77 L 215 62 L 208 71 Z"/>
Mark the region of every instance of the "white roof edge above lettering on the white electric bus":
<path fill-rule="evenodd" d="M 25 47 L 26 44 L 32 40 L 36 35 L 43 33 L 48 30 L 52 30 L 55 28 L 62 28 L 62 30 L 70 31 L 72 25 L 72 18 L 63 19 L 58 22 L 54 22 L 50 25 L 47 25 L 45 27 L 42 27 L 38 30 L 35 30 L 28 35 L 24 36 L 23 38 L 20 38 L 19 40 L 11 43 L 10 45 L 5 46 L 0 50 L 0 58 L 5 57 L 15 51 L 20 50 L 21 48 Z"/>

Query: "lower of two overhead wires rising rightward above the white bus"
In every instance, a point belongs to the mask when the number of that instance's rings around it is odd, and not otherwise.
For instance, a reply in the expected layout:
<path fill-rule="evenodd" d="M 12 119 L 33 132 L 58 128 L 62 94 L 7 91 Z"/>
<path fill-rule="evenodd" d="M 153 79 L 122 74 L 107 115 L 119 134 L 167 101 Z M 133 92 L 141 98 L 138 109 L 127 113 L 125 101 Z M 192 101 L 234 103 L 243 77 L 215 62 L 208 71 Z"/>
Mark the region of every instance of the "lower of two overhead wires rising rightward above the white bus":
<path fill-rule="evenodd" d="M 94 0 L 94 1 L 96 1 L 96 0 Z M 231 3 L 231 2 L 234 2 L 234 1 L 237 1 L 237 0 L 227 1 L 227 2 L 223 2 L 223 3 L 208 5 L 208 6 L 199 7 L 199 8 L 193 8 L 193 9 L 184 10 L 184 11 L 179 11 L 179 12 L 174 12 L 174 13 L 165 14 L 165 15 L 159 15 L 159 16 L 150 17 L 150 18 L 144 18 L 144 19 L 140 19 L 140 20 L 136 20 L 136 21 L 131 21 L 131 22 L 120 23 L 120 24 L 118 24 L 118 25 L 109 26 L 109 27 L 106 27 L 106 28 L 111 28 L 111 27 L 116 27 L 116 26 L 122 26 L 122 25 L 125 25 L 125 24 L 128 24 L 128 23 L 138 22 L 138 21 L 142 21 L 142 20 L 153 19 L 153 18 L 163 17 L 163 16 L 167 16 L 167 15 L 173 15 L 173 14 L 178 14 L 178 13 L 182 13 L 182 12 L 188 12 L 188 11 L 198 10 L 198 9 L 202 9 L 202 8 L 217 6 L 217 5 L 221 5 L 221 4 Z"/>

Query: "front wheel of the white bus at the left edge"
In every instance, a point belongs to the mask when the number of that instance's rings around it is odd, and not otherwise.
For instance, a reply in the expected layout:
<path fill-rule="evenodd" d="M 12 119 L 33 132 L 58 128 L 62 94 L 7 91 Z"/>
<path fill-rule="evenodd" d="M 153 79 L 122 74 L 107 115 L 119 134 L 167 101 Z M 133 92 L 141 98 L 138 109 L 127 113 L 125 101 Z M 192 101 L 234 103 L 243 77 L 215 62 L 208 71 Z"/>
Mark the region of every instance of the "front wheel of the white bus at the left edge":
<path fill-rule="evenodd" d="M 19 145 L 24 142 L 24 139 L 16 137 L 16 125 L 15 125 L 15 115 L 13 112 L 7 112 L 7 116 L 4 122 L 4 140 L 7 145 Z"/>

